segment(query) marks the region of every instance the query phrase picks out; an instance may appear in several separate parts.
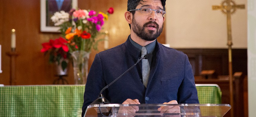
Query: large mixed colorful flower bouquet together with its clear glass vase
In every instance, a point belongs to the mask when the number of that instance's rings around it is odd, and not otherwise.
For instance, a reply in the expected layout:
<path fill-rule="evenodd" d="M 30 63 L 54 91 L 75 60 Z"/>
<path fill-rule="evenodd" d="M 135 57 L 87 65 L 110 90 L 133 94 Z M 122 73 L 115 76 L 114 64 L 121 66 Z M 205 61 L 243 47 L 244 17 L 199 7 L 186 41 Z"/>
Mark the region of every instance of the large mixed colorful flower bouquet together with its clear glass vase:
<path fill-rule="evenodd" d="M 55 12 L 51 17 L 55 26 L 60 26 L 60 32 L 67 43 L 68 52 L 73 57 L 75 84 L 85 84 L 88 74 L 88 59 L 91 48 L 97 50 L 96 39 L 101 34 L 100 30 L 104 21 L 114 12 L 110 7 L 106 13 L 93 10 L 75 10 L 69 12 Z"/>

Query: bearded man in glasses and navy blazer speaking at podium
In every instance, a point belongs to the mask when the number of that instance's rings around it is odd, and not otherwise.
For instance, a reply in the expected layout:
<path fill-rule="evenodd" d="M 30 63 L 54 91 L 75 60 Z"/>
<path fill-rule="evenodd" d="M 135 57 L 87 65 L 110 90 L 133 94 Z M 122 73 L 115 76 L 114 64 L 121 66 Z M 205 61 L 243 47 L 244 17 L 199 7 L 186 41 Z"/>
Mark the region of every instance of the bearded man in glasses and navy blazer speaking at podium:
<path fill-rule="evenodd" d="M 106 85 L 132 67 L 105 91 L 115 104 L 199 103 L 191 64 L 181 51 L 157 42 L 163 30 L 166 0 L 128 0 L 125 19 L 131 34 L 127 41 L 96 54 L 84 93 L 82 115 Z M 163 111 L 163 108 L 159 108 Z"/>

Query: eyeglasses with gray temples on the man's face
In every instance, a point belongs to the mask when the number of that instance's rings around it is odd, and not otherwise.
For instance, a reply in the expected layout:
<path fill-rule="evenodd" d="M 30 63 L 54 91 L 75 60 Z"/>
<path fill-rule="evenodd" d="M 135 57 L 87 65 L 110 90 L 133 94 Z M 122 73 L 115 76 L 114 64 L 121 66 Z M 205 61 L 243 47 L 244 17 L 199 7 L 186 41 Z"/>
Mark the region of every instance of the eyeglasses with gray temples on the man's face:
<path fill-rule="evenodd" d="M 133 9 L 133 10 L 129 10 L 129 12 L 138 11 L 138 10 L 141 10 L 141 14 L 143 15 L 149 15 L 152 13 L 152 11 L 154 11 L 157 17 L 164 17 L 164 14 L 166 13 L 164 10 L 153 10 L 150 8 Z"/>

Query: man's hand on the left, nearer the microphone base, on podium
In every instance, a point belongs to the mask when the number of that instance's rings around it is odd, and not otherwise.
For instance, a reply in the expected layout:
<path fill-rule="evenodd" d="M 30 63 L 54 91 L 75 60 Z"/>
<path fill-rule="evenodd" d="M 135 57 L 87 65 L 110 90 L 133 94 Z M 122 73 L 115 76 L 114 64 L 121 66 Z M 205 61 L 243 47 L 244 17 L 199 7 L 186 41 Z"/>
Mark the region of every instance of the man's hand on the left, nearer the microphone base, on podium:
<path fill-rule="evenodd" d="M 129 104 L 129 105 L 136 105 L 136 104 L 141 104 L 139 102 L 138 99 L 127 99 L 125 100 L 123 103 L 124 104 Z M 125 113 L 125 114 L 129 114 L 129 113 L 136 113 L 137 111 L 139 111 L 139 107 L 138 106 L 128 106 L 128 107 L 120 107 L 118 110 L 118 113 Z"/>

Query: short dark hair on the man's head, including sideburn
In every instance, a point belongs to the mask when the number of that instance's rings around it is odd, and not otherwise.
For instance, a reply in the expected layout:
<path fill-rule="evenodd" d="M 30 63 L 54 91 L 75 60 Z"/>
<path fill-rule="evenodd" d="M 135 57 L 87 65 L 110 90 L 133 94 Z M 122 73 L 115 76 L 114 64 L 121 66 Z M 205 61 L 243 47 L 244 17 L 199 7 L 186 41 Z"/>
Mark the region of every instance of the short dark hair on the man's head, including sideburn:
<path fill-rule="evenodd" d="M 133 10 L 133 9 L 136 9 L 136 7 L 139 5 L 139 4 L 142 4 L 141 1 L 146 1 L 146 0 L 128 0 L 127 1 L 127 11 L 129 10 Z M 162 5 L 163 5 L 163 10 L 165 11 L 165 2 L 166 0 L 161 0 L 162 2 Z M 132 15 L 134 15 L 135 11 L 131 11 Z M 130 29 L 131 29 L 131 24 L 129 24 L 130 26 Z"/>

